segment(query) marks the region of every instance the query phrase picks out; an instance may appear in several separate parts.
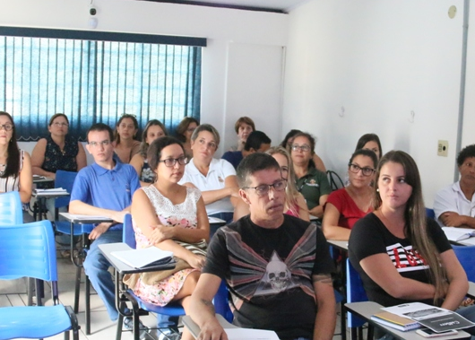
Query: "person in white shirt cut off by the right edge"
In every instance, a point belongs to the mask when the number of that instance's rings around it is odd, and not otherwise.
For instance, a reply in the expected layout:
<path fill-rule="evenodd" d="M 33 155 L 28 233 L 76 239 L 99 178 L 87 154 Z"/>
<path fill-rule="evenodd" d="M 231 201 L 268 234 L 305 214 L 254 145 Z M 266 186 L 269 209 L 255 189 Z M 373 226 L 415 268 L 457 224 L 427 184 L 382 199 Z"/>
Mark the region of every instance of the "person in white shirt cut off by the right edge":
<path fill-rule="evenodd" d="M 434 213 L 445 226 L 475 228 L 475 144 L 462 149 L 457 165 L 460 180 L 437 193 Z"/>

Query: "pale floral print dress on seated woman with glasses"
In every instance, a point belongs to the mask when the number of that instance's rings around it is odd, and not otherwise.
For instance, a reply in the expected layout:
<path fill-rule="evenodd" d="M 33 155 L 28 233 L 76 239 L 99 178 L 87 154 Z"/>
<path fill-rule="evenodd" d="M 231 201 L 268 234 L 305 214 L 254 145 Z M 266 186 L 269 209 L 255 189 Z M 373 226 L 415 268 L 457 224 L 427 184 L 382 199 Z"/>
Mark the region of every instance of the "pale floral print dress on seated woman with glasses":
<path fill-rule="evenodd" d="M 153 185 L 142 187 L 142 190 L 149 197 L 151 205 L 163 225 L 174 228 L 196 228 L 196 205 L 201 197 L 201 191 L 194 187 L 186 187 L 186 199 L 183 203 L 173 205 L 171 201 L 160 194 L 160 191 Z M 137 248 L 147 248 L 151 242 L 143 235 L 142 231 L 133 222 L 135 240 Z M 157 284 L 145 284 L 139 279 L 134 288 L 134 293 L 144 301 L 151 302 L 159 306 L 165 306 L 179 292 L 186 276 L 197 271 L 197 269 L 187 268 L 181 270 L 168 278 L 161 280 Z"/>

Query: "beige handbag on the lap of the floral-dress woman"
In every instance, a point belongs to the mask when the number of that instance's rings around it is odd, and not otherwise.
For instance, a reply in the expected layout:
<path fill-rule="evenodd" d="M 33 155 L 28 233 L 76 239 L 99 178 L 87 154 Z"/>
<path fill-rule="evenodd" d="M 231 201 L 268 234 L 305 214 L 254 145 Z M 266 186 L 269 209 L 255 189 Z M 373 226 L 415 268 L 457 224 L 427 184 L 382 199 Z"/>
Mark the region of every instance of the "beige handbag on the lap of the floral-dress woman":
<path fill-rule="evenodd" d="M 195 255 L 201 255 L 206 257 L 206 249 L 208 245 L 206 240 L 200 240 L 196 243 L 187 243 L 182 242 L 180 240 L 176 240 L 178 245 L 190 250 Z M 166 279 L 168 276 L 174 275 L 175 273 L 179 272 L 180 270 L 184 270 L 187 268 L 191 268 L 191 266 L 183 259 L 179 257 L 175 257 L 175 261 L 177 262 L 175 268 L 168 269 L 168 270 L 159 270 L 156 272 L 146 272 L 146 273 L 134 273 L 134 274 L 126 274 L 124 275 L 123 282 L 131 289 L 134 289 L 139 278 L 142 280 L 142 283 L 147 285 L 157 284 L 160 281 Z"/>

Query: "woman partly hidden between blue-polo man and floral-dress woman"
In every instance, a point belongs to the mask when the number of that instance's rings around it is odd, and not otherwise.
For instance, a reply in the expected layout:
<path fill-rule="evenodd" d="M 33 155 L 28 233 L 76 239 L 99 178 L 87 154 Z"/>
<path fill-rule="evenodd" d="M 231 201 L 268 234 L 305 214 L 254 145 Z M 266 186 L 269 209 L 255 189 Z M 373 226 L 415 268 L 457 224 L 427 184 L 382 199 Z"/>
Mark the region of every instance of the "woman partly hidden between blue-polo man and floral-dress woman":
<path fill-rule="evenodd" d="M 130 165 L 132 165 L 139 175 L 140 185 L 142 187 L 149 186 L 154 179 L 153 170 L 149 166 L 147 161 L 147 150 L 149 150 L 149 145 L 155 139 L 160 138 L 164 135 L 168 135 L 167 128 L 161 124 L 160 120 L 151 119 L 143 129 L 142 133 L 142 143 L 140 144 L 140 153 L 136 153 Z"/>

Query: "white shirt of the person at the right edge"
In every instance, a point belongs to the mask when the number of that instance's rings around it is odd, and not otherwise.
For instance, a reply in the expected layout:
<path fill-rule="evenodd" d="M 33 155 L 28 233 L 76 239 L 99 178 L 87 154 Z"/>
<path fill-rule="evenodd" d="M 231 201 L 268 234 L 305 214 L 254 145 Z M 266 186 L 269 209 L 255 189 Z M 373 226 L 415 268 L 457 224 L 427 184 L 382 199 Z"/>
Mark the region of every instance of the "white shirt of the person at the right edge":
<path fill-rule="evenodd" d="M 472 196 L 471 201 L 469 201 L 465 195 L 463 195 L 460 181 L 443 188 L 437 192 L 436 200 L 434 201 L 436 220 L 439 221 L 439 216 L 445 212 L 475 217 L 475 195 Z"/>

